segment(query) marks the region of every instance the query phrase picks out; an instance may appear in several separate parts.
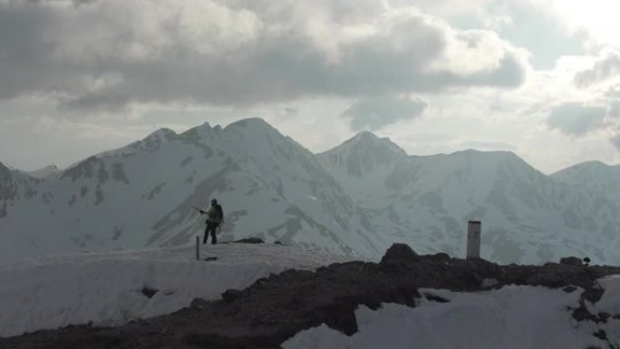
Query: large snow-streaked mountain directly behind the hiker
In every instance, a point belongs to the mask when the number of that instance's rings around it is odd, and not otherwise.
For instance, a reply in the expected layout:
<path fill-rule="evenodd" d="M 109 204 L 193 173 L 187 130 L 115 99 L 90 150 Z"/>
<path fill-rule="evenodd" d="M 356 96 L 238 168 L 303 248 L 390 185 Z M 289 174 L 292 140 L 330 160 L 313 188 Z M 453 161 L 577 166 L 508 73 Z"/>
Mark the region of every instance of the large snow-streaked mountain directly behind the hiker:
<path fill-rule="evenodd" d="M 156 131 L 36 183 L 0 219 L 0 230 L 34 244 L 3 244 L 4 257 L 188 244 L 204 227 L 191 206 L 211 198 L 225 209 L 222 240 L 257 236 L 365 257 L 384 247 L 314 155 L 257 119 Z"/>

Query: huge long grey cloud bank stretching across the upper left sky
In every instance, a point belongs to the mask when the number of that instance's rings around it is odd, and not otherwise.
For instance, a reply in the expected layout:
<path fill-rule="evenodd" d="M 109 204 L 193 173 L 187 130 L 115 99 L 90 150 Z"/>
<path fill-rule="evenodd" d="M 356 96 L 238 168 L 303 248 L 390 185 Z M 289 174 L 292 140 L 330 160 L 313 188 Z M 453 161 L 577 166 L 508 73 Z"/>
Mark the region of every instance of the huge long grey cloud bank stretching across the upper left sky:
<path fill-rule="evenodd" d="M 518 86 L 527 56 L 381 0 L 0 1 L 0 99 L 248 105 Z M 466 57 L 464 60 L 462 57 Z"/>

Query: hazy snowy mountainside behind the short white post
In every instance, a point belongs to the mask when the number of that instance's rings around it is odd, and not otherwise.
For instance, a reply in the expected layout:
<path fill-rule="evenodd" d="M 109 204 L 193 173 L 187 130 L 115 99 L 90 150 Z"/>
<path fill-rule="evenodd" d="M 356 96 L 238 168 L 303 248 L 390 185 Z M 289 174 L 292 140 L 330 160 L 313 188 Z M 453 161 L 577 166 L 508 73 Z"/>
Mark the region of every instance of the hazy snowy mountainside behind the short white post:
<path fill-rule="evenodd" d="M 490 260 L 544 263 L 576 255 L 620 263 L 618 205 L 550 178 L 511 152 L 405 156 L 361 177 L 344 175 L 344 162 L 329 160 L 352 152 L 373 153 L 336 148 L 318 157 L 392 242 L 463 256 L 472 219 L 482 221 L 482 257 Z"/>

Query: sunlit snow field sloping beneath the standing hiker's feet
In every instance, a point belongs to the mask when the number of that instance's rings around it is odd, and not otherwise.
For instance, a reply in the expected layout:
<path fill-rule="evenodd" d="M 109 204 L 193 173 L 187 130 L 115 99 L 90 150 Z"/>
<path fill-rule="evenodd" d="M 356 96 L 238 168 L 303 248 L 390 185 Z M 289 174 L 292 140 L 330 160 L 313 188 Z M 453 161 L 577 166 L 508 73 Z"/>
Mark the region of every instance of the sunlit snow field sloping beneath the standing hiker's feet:
<path fill-rule="evenodd" d="M 220 244 L 30 259 L 0 265 L 0 336 L 66 325 L 121 325 L 170 314 L 192 299 L 218 299 L 288 268 L 315 269 L 335 257 L 277 245 Z M 144 287 L 156 289 L 149 298 Z"/>

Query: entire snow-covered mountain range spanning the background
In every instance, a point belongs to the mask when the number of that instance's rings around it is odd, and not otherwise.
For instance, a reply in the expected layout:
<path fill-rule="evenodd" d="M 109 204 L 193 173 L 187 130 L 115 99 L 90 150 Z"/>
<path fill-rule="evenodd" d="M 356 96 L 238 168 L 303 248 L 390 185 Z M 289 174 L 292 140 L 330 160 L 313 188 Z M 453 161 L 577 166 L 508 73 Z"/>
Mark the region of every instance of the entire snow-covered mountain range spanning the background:
<path fill-rule="evenodd" d="M 221 240 L 368 258 L 405 242 L 462 256 L 477 219 L 490 260 L 617 265 L 615 172 L 585 163 L 547 176 L 511 152 L 409 156 L 370 132 L 315 155 L 259 119 L 162 129 L 39 178 L 0 164 L 0 261 L 189 244 L 204 227 L 192 206 L 217 198 Z"/>

